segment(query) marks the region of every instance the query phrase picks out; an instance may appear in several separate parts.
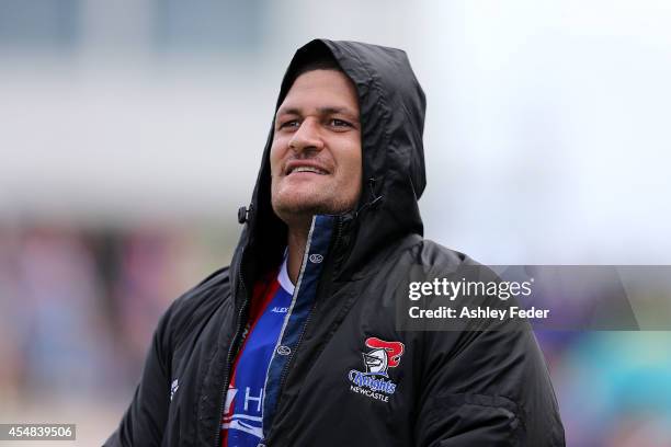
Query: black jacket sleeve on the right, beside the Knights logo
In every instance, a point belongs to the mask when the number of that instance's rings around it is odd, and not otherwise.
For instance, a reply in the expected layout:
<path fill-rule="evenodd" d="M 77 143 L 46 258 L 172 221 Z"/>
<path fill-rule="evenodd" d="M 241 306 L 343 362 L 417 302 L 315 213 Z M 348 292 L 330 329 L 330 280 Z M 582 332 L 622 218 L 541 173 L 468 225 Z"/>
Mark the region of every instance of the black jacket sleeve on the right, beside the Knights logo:
<path fill-rule="evenodd" d="M 564 446 L 543 354 L 528 329 L 424 333 L 417 446 Z M 452 333 L 454 335 L 454 333 Z"/>

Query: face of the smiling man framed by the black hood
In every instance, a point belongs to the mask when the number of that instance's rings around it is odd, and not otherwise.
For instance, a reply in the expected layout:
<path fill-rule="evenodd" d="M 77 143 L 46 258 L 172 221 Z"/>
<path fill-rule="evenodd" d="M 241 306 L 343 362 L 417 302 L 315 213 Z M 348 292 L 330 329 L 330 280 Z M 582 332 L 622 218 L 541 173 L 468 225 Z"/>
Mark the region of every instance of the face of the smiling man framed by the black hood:
<path fill-rule="evenodd" d="M 285 222 L 353 209 L 361 193 L 361 157 L 352 81 L 336 70 L 300 74 L 275 116 L 273 209 Z"/>

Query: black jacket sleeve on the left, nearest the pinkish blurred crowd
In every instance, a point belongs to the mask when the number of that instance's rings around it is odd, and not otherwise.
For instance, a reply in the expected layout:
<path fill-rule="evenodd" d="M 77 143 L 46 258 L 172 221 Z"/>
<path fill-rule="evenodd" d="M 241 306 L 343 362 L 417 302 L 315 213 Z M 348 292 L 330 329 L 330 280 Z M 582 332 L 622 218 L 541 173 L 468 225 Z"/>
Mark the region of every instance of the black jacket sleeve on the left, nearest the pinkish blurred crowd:
<path fill-rule="evenodd" d="M 133 401 L 105 447 L 159 446 L 170 406 L 169 309 L 153 333 Z"/>

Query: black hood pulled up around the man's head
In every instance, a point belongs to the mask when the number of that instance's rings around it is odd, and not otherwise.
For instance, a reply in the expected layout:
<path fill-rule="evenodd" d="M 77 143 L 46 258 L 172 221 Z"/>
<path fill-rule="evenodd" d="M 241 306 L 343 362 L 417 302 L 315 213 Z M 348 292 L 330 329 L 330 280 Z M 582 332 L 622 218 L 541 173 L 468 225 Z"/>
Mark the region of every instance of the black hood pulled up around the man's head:
<path fill-rule="evenodd" d="M 422 145 L 427 103 L 405 51 L 359 42 L 315 39 L 292 59 L 275 112 L 292 87 L 296 69 L 325 53 L 332 55 L 352 80 L 360 105 L 362 193 L 354 210 L 337 216 L 343 239 L 341 274 L 349 277 L 366 271 L 367 261 L 390 242 L 411 233 L 423 234 L 418 199 L 427 184 Z M 286 245 L 286 225 L 271 205 L 273 128 L 251 205 L 247 215 L 240 214 L 247 225 L 232 262 L 235 270 L 241 261 L 253 257 L 255 272 L 250 272 L 251 276 L 276 266 Z"/>

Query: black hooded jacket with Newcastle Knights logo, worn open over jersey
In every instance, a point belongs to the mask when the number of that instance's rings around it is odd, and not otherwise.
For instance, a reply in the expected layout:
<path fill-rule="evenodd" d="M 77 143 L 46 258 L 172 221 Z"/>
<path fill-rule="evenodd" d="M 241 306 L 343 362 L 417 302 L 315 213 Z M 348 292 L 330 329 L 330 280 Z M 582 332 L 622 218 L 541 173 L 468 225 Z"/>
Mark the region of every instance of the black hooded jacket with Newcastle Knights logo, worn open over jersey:
<path fill-rule="evenodd" d="M 322 51 L 359 94 L 363 190 L 354 211 L 312 220 L 268 373 L 262 445 L 562 446 L 532 332 L 397 330 L 394 278 L 417 265 L 440 273 L 475 263 L 422 238 L 425 99 L 403 51 L 312 41 L 296 53 L 277 105 L 296 66 Z M 133 402 L 106 446 L 220 445 L 250 290 L 278 265 L 286 243 L 286 227 L 271 208 L 271 141 L 272 130 L 230 267 L 163 314 Z M 402 352 L 375 354 L 372 340 Z M 384 377 L 366 375 L 380 358 Z"/>

